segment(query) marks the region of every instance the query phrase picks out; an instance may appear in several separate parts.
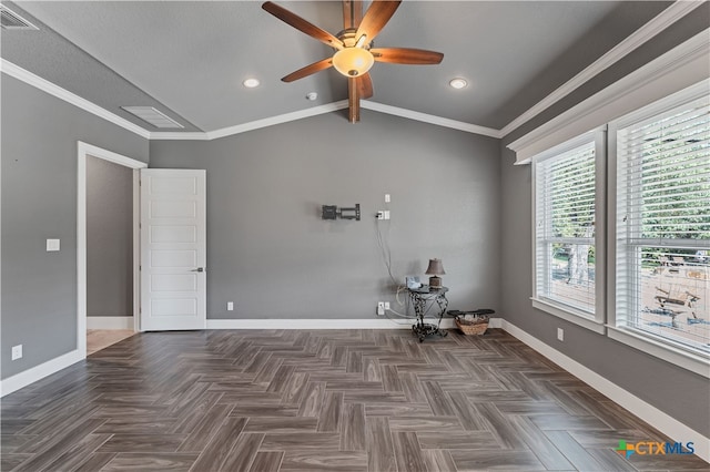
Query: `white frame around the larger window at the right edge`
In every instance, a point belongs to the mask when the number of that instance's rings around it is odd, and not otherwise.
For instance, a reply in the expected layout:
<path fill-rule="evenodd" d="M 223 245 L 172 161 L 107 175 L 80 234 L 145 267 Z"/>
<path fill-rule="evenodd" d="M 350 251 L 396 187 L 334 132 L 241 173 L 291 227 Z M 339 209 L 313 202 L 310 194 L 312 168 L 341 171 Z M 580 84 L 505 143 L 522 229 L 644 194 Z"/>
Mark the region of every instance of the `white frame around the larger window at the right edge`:
<path fill-rule="evenodd" d="M 655 336 L 651 332 L 630 327 L 626 322 L 626 314 L 617 312 L 617 184 L 618 184 L 618 132 L 638 122 L 660 115 L 669 110 L 682 106 L 702 98 L 710 98 L 706 81 L 668 95 L 635 112 L 609 122 L 608 132 L 608 219 L 607 240 L 607 336 L 613 340 L 631 346 L 640 351 L 672 362 L 687 370 L 710 378 L 710 355 L 698 352 L 672 339 Z"/>

